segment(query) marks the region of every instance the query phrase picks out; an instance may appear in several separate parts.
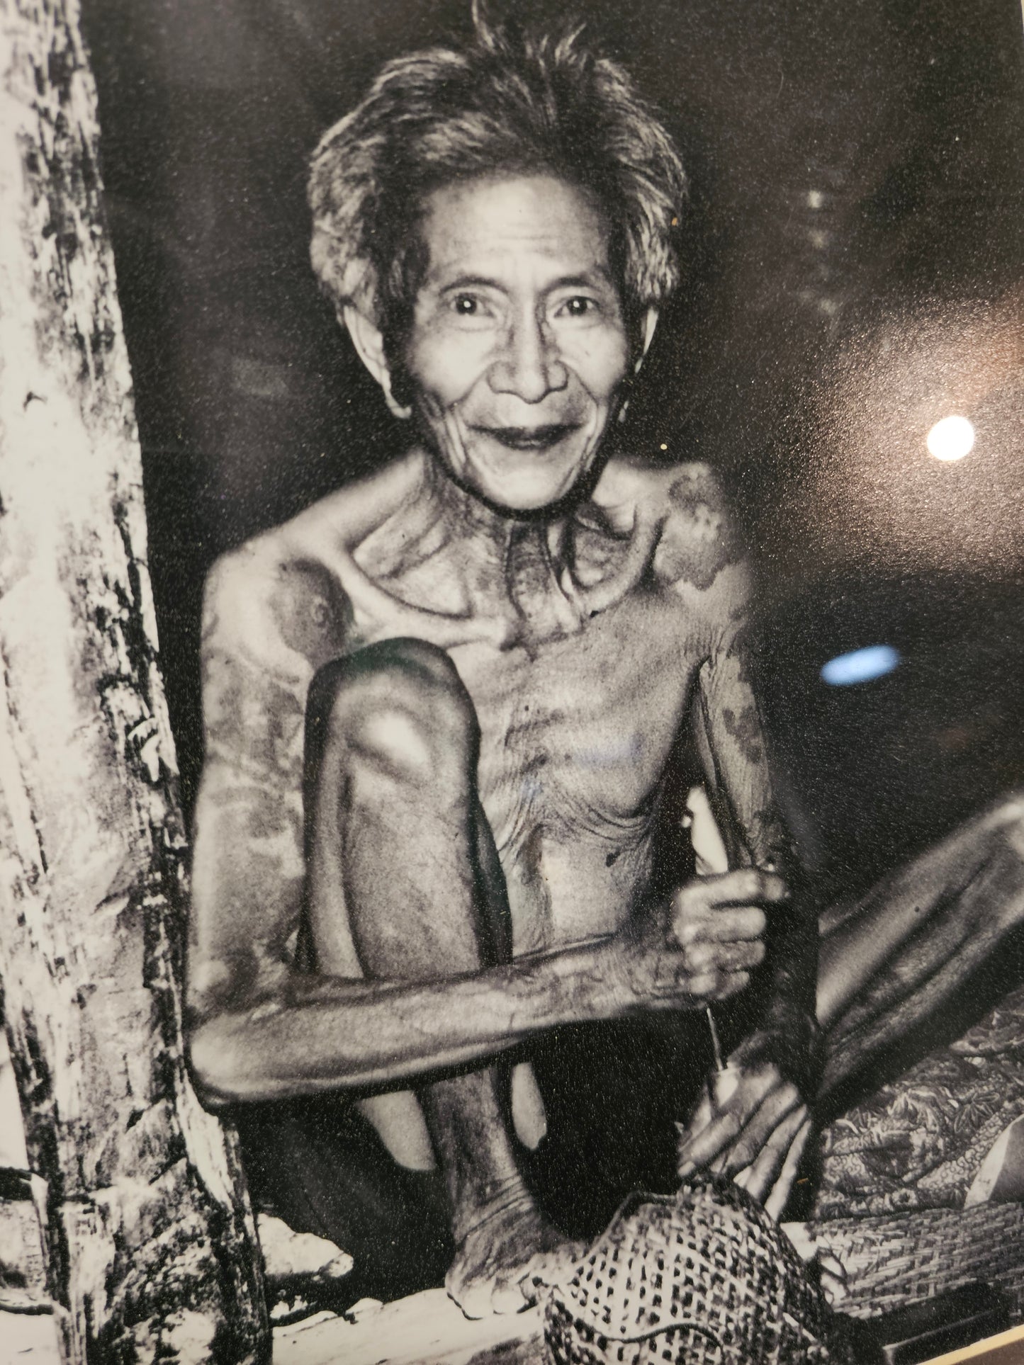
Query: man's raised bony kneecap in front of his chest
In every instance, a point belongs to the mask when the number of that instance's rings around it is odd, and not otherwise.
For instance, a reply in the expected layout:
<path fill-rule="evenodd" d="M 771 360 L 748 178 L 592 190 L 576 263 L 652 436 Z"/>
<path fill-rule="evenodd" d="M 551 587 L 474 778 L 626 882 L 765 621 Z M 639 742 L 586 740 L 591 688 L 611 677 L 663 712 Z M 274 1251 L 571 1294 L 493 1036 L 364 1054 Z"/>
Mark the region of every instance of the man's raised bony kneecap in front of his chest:
<path fill-rule="evenodd" d="M 433 785 L 475 767 L 472 702 L 448 655 L 423 640 L 384 640 L 321 669 L 309 715 L 347 766 Z"/>

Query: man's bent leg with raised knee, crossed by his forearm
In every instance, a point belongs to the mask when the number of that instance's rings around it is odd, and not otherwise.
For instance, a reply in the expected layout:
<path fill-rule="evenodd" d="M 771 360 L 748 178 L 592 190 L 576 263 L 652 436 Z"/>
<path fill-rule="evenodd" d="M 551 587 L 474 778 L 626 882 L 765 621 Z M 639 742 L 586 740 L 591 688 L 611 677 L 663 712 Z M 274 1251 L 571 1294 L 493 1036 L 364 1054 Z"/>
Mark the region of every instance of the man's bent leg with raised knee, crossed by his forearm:
<path fill-rule="evenodd" d="M 504 882 L 475 792 L 477 719 L 448 657 L 389 640 L 329 665 L 310 691 L 307 736 L 318 969 L 427 980 L 507 960 Z M 449 1293 L 470 1313 L 520 1308 L 528 1263 L 563 1239 L 527 1193 L 498 1072 L 438 1078 L 419 1102 L 452 1205 Z"/>

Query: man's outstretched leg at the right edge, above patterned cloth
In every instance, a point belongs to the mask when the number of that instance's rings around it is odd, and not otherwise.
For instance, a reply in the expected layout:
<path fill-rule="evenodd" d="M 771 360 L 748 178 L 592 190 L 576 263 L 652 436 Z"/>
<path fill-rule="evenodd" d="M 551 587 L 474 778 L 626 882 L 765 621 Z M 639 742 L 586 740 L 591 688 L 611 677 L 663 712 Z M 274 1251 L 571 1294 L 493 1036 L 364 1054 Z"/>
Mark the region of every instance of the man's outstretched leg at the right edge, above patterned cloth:
<path fill-rule="evenodd" d="M 1024 924 L 1024 796 L 1013 794 L 821 920 L 827 1097 L 934 1014 Z"/>

